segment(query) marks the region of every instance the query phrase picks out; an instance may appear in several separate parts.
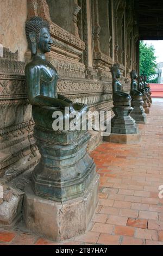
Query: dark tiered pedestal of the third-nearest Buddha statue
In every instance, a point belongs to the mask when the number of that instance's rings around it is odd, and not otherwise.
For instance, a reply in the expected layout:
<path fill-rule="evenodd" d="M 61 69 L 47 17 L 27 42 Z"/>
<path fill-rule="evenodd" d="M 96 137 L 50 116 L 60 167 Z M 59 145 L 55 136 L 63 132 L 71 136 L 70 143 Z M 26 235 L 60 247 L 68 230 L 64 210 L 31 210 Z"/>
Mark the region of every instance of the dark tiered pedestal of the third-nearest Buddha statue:
<path fill-rule="evenodd" d="M 131 112 L 131 117 L 135 119 L 137 124 L 146 124 L 147 115 L 143 109 L 142 97 L 136 97 L 132 100 L 132 107 L 134 108 Z"/>

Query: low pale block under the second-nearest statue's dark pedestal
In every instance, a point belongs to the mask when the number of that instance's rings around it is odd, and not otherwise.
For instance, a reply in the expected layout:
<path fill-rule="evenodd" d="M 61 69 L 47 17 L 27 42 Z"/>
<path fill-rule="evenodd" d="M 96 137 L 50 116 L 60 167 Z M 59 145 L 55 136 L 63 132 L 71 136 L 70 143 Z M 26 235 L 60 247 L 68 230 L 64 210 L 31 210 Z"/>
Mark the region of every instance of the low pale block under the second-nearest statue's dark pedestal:
<path fill-rule="evenodd" d="M 104 137 L 104 141 L 120 144 L 135 144 L 140 141 L 140 133 L 117 134 L 111 133 L 110 136 Z"/>

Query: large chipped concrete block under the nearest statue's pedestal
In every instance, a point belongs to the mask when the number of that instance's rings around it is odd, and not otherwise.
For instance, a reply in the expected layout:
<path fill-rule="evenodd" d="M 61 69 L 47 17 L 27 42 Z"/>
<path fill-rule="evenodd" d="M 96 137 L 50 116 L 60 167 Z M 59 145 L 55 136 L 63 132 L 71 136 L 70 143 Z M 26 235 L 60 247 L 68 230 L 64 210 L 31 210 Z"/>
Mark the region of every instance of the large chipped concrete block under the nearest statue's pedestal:
<path fill-rule="evenodd" d="M 60 203 L 36 196 L 28 184 L 23 207 L 27 227 L 55 241 L 84 233 L 97 206 L 98 185 L 96 174 L 83 197 Z"/>

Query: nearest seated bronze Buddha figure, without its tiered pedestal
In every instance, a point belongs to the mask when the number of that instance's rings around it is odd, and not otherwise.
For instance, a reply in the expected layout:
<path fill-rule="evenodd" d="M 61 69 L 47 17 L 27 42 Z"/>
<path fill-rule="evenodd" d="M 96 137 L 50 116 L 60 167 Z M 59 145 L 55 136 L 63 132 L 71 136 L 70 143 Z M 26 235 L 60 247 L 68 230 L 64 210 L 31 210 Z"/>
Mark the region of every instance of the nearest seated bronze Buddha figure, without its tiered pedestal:
<path fill-rule="evenodd" d="M 69 114 L 87 111 L 83 103 L 73 103 L 71 100 L 57 93 L 58 74 L 54 66 L 46 60 L 45 53 L 51 51 L 52 39 L 49 33 L 49 23 L 41 17 L 32 17 L 26 22 L 26 36 L 28 46 L 32 51 L 32 59 L 26 65 L 26 82 L 29 102 L 33 105 L 33 118 L 49 109 L 68 107 Z M 46 109 L 46 111 L 45 111 Z M 64 115 L 64 119 L 66 116 Z M 43 121 L 42 121 L 43 122 Z M 46 125 L 46 122 L 43 124 Z"/>

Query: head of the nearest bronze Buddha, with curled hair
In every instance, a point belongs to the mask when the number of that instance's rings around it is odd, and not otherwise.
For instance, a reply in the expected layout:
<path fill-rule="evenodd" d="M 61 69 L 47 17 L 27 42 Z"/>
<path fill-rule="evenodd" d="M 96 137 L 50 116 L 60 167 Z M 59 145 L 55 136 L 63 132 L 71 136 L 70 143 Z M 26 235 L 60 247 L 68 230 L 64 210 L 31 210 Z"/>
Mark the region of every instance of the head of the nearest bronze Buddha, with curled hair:
<path fill-rule="evenodd" d="M 41 17 L 32 17 L 26 22 L 26 36 L 32 54 L 51 51 L 52 39 L 49 23 Z"/>

